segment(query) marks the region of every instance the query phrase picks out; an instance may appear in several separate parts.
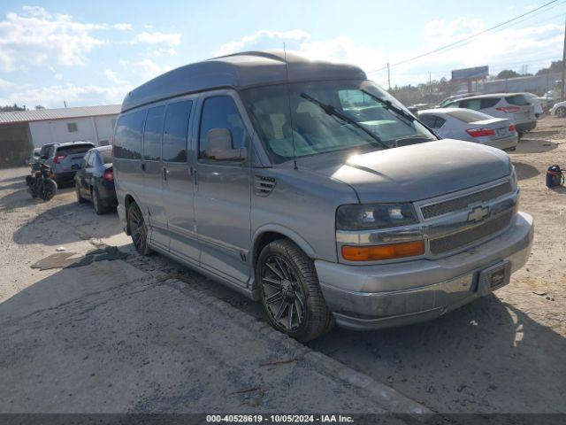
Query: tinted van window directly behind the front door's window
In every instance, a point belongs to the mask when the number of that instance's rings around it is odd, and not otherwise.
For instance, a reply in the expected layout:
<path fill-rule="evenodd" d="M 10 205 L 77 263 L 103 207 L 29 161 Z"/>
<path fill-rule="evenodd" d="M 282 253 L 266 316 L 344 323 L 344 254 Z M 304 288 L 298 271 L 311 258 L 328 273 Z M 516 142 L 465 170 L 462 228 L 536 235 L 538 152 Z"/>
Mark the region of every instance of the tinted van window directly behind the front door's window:
<path fill-rule="evenodd" d="M 163 160 L 168 162 L 187 161 L 188 119 L 193 101 L 167 105 L 163 130 Z"/>

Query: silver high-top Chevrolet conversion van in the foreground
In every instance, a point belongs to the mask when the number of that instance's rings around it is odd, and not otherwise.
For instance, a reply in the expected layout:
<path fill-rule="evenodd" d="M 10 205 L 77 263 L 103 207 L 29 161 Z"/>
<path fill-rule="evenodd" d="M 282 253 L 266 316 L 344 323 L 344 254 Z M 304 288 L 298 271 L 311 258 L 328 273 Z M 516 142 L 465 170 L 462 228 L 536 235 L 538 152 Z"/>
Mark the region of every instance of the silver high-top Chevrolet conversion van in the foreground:
<path fill-rule="evenodd" d="M 509 283 L 532 246 L 509 156 L 438 140 L 356 66 L 245 52 L 128 93 L 119 218 L 261 300 L 300 341 L 438 317 Z"/>

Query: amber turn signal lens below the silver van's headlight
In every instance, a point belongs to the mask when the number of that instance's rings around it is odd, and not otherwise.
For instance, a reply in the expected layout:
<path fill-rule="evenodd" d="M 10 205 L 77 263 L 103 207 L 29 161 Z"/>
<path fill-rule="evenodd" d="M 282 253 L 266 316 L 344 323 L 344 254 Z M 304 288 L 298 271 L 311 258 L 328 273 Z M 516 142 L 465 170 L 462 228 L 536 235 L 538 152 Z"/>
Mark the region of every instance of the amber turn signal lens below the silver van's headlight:
<path fill-rule="evenodd" d="M 402 259 L 424 254 L 424 242 L 413 241 L 371 246 L 342 246 L 342 258 L 348 261 L 375 261 L 378 259 Z"/>

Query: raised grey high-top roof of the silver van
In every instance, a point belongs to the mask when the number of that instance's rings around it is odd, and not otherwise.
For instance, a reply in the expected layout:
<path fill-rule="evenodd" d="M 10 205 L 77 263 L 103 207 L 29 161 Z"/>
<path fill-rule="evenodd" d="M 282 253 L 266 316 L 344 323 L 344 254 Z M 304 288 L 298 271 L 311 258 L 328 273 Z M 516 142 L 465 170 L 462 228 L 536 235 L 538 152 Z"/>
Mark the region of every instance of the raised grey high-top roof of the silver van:
<path fill-rule="evenodd" d="M 287 52 L 288 81 L 366 80 L 357 66 L 311 61 Z M 287 81 L 282 50 L 245 51 L 180 66 L 130 91 L 122 112 L 142 104 L 198 91 L 277 84 Z"/>

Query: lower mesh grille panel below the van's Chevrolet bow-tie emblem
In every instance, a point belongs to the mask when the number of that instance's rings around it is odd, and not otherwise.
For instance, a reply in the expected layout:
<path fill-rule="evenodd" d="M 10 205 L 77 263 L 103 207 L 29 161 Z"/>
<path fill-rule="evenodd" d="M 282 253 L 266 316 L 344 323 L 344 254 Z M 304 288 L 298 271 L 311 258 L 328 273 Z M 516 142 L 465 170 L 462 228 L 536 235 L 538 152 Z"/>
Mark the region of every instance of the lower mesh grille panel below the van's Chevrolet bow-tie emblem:
<path fill-rule="evenodd" d="M 455 233 L 454 235 L 432 239 L 429 242 L 431 253 L 442 254 L 444 252 L 453 251 L 469 243 L 498 233 L 509 225 L 512 218 L 513 210 L 509 210 L 508 212 L 501 214 L 501 216 L 479 224 L 478 226 L 474 226 L 473 228 L 463 230 L 462 232 Z"/>

